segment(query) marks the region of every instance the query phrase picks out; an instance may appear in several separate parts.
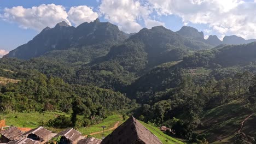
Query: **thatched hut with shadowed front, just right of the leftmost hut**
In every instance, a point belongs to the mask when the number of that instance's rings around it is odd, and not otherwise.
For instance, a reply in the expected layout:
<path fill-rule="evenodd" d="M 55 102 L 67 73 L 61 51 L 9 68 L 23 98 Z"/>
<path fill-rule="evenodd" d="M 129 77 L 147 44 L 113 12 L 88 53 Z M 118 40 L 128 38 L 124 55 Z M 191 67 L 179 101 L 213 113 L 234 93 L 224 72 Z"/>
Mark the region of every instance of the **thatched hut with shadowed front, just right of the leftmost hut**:
<path fill-rule="evenodd" d="M 36 129 L 32 129 L 27 131 L 22 135 L 22 137 L 27 137 L 28 139 L 32 139 L 34 141 L 40 141 L 40 143 L 48 142 L 51 139 L 51 131 L 38 127 Z"/>

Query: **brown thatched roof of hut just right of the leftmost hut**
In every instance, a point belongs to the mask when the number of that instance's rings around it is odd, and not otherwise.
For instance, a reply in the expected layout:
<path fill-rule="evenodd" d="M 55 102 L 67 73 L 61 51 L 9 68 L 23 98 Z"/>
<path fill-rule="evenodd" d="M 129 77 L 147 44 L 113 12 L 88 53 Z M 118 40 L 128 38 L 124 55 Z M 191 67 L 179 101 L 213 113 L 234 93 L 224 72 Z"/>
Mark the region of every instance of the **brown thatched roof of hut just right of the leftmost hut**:
<path fill-rule="evenodd" d="M 29 134 L 37 135 L 38 137 L 40 137 L 40 139 L 45 140 L 51 134 L 51 131 L 45 129 L 44 127 L 38 127 L 38 128 L 35 128 L 35 129 L 31 129 L 30 131 L 27 131 L 23 135 L 28 136 Z"/>

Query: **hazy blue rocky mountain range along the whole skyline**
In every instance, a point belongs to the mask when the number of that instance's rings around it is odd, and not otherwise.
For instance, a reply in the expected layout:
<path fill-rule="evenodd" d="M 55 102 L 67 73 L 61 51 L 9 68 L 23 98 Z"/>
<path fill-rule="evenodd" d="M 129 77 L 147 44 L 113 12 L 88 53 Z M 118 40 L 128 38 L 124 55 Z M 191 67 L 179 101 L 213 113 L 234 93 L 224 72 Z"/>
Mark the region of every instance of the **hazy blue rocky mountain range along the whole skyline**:
<path fill-rule="evenodd" d="M 159 35 L 161 34 L 161 35 Z M 152 29 L 143 28 L 138 33 L 126 34 L 119 28 L 109 22 L 100 22 L 96 19 L 93 22 L 85 22 L 78 27 L 69 26 L 65 21 L 57 23 L 54 28 L 46 27 L 27 44 L 21 45 L 10 51 L 5 57 L 16 57 L 20 59 L 30 59 L 39 57 L 47 52 L 54 50 L 67 50 L 70 48 L 86 47 L 91 45 L 104 44 L 108 50 L 113 45 L 122 44 L 132 39 L 145 39 L 143 43 L 149 44 L 150 39 L 157 40 L 156 37 L 163 40 L 158 49 L 164 53 L 166 50 L 163 45 L 168 44 L 173 47 L 184 47 L 191 50 L 210 49 L 220 44 L 247 44 L 256 41 L 255 39 L 245 40 L 236 35 L 225 36 L 223 41 L 219 40 L 216 35 L 210 35 L 204 39 L 203 32 L 199 32 L 193 27 L 183 26 L 179 31 L 172 32 L 162 26 L 153 27 Z M 147 39 L 147 40 L 146 40 Z M 153 46 L 156 47 L 156 46 Z M 149 50 L 148 52 L 153 52 Z M 164 50 L 164 51 L 162 51 Z M 167 52 L 168 53 L 168 52 Z M 165 56 L 164 56 L 165 57 Z"/>

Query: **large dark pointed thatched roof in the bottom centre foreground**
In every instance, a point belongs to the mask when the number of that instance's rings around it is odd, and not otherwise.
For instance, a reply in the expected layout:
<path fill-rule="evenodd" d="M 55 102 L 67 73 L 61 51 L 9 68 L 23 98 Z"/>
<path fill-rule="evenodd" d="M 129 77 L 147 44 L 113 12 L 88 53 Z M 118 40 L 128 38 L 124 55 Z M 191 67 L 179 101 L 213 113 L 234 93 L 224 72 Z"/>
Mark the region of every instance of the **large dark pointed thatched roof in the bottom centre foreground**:
<path fill-rule="evenodd" d="M 130 117 L 102 140 L 102 144 L 123 143 L 133 144 L 137 141 L 145 144 L 161 144 L 158 137 L 151 133 L 134 117 Z"/>

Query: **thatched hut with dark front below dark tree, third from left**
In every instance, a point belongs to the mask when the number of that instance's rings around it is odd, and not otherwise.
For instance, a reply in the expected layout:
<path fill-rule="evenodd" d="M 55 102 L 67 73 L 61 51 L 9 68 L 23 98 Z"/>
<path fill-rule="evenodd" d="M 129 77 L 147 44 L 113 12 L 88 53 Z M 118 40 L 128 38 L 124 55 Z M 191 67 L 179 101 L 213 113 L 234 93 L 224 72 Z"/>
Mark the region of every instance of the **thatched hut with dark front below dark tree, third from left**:
<path fill-rule="evenodd" d="M 61 131 L 59 134 L 54 136 L 54 138 L 58 138 L 59 136 L 61 136 L 61 139 L 58 142 L 59 144 L 74 144 L 79 140 L 84 139 L 84 136 L 73 128 Z"/>

